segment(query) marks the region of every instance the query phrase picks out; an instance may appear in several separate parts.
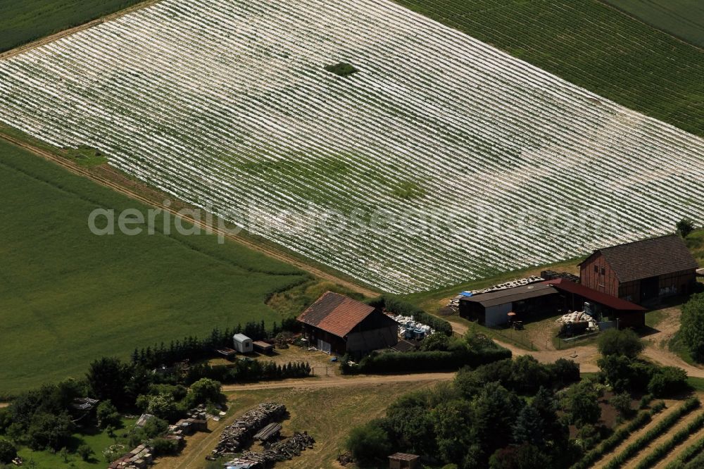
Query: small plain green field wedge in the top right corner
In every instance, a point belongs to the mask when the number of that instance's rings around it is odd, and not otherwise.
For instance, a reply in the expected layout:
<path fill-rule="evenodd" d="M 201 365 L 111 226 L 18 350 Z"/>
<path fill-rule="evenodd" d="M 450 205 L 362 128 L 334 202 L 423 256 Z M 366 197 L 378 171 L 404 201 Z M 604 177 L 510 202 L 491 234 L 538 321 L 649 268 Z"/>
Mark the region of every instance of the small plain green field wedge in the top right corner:
<path fill-rule="evenodd" d="M 704 47 L 704 2 L 701 0 L 605 0 L 649 25 Z"/>

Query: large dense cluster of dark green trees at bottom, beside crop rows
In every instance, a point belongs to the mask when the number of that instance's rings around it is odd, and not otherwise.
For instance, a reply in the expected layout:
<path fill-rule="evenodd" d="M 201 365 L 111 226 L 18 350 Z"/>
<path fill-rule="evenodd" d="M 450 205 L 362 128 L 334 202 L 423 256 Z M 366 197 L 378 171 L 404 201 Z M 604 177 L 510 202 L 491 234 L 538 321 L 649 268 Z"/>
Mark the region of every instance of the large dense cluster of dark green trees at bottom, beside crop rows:
<path fill-rule="evenodd" d="M 359 467 L 382 467 L 394 451 L 428 456 L 434 467 L 569 467 L 579 449 L 551 387 L 572 380 L 575 369 L 529 356 L 464 368 L 453 384 L 402 396 L 384 418 L 353 429 L 346 446 Z M 518 384 L 528 378 L 532 385 Z"/>

